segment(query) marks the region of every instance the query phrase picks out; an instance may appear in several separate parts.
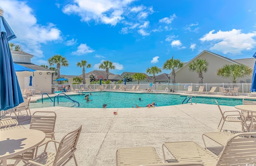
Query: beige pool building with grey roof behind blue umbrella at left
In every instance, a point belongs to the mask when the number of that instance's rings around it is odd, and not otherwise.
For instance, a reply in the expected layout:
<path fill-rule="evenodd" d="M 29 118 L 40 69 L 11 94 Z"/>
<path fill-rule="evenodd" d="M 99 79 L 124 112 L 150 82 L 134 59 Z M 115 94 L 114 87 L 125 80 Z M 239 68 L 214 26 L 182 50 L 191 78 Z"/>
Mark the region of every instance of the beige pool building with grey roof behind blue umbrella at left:
<path fill-rule="evenodd" d="M 20 64 L 22 66 L 26 66 L 28 68 L 34 69 L 34 72 L 16 72 L 18 77 L 18 82 L 20 84 L 20 88 L 24 89 L 33 89 L 33 90 L 41 90 L 42 93 L 51 94 L 52 92 L 52 70 L 48 68 L 44 68 L 42 66 L 38 66 L 36 64 L 31 63 L 31 58 L 33 55 L 28 53 L 24 53 L 21 51 L 11 51 L 13 62 L 16 64 Z M 30 76 L 32 76 L 32 86 L 29 86 Z"/>

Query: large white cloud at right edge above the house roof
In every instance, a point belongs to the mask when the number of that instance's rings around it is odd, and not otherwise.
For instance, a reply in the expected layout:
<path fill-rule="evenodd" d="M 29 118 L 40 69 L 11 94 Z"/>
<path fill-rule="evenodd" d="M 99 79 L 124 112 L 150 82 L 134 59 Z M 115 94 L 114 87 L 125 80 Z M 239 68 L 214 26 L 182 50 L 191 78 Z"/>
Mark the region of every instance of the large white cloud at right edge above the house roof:
<path fill-rule="evenodd" d="M 224 54 L 239 54 L 241 51 L 253 49 L 256 46 L 256 31 L 251 33 L 242 33 L 241 29 L 232 29 L 231 31 L 221 31 L 214 33 L 214 30 L 206 33 L 201 41 L 211 42 L 210 50 L 221 51 Z"/>

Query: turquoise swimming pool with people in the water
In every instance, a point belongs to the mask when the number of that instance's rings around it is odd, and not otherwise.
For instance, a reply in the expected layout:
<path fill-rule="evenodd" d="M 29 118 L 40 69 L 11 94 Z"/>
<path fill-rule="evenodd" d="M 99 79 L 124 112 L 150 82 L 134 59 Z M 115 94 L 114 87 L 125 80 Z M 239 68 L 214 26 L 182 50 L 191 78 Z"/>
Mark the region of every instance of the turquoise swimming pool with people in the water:
<path fill-rule="evenodd" d="M 85 93 L 90 94 L 90 93 Z M 167 106 L 167 105 L 178 105 L 182 104 L 186 96 L 174 95 L 174 94 L 156 94 L 156 93 L 127 93 L 127 92 L 92 92 L 89 96 L 90 102 L 84 100 L 84 95 L 71 95 L 70 98 L 80 103 L 80 107 L 84 108 L 102 108 L 103 104 L 107 104 L 108 108 L 127 108 L 135 107 L 135 104 L 139 106 L 146 106 L 149 103 L 156 102 L 157 106 Z M 141 101 L 139 101 L 141 98 Z M 52 98 L 53 100 L 53 98 Z M 186 99 L 187 101 L 188 99 Z M 196 97 L 197 103 L 204 104 L 214 104 L 215 100 L 218 101 L 220 105 L 235 106 L 242 104 L 242 99 L 232 99 L 232 98 L 212 98 L 212 97 Z M 30 103 L 30 108 L 40 108 L 40 107 L 52 107 L 53 102 L 49 99 L 38 100 L 36 103 Z M 190 102 L 190 101 L 189 101 Z M 195 103 L 195 99 L 192 98 L 192 102 Z M 184 102 L 186 103 L 186 102 Z M 55 101 L 55 106 L 62 107 L 78 107 L 78 104 L 72 102 L 63 97 L 59 97 L 59 105 L 57 104 L 57 98 Z"/>

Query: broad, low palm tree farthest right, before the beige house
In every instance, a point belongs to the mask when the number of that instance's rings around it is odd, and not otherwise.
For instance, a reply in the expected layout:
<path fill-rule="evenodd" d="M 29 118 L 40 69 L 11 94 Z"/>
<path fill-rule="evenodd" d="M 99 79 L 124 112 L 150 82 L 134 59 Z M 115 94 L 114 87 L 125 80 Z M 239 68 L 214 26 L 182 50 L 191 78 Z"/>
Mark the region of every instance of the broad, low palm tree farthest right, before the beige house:
<path fill-rule="evenodd" d="M 251 76 L 252 72 L 252 68 L 244 64 L 225 64 L 217 70 L 217 76 L 229 78 L 232 83 L 236 84 L 238 78 Z"/>

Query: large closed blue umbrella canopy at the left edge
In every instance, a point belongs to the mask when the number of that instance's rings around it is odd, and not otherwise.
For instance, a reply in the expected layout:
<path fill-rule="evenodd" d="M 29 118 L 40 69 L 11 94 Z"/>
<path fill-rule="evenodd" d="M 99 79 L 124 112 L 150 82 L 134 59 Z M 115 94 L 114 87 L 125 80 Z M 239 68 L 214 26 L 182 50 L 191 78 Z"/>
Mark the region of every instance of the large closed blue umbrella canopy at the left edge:
<path fill-rule="evenodd" d="M 0 8 L 0 110 L 16 107 L 24 102 L 15 73 L 9 41 L 16 35 L 2 16 Z"/>

